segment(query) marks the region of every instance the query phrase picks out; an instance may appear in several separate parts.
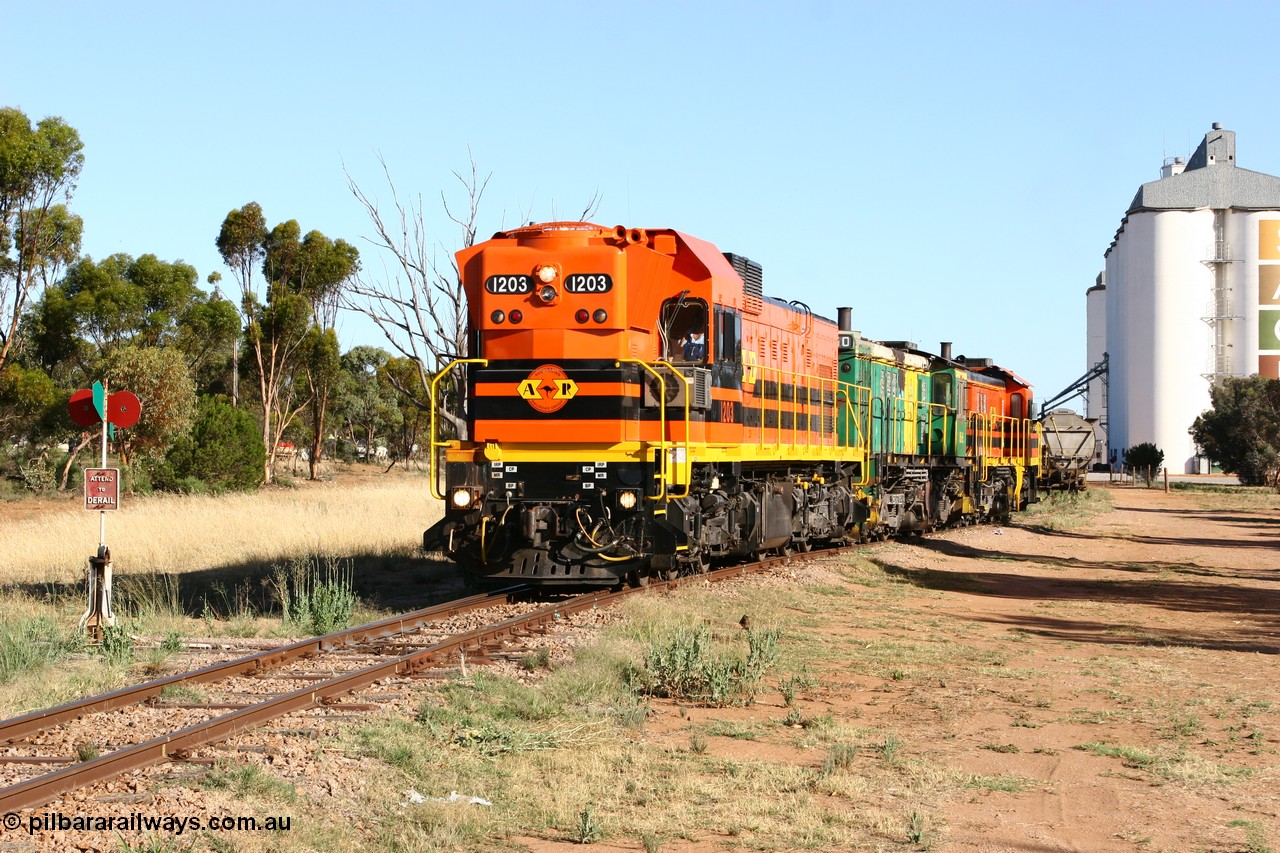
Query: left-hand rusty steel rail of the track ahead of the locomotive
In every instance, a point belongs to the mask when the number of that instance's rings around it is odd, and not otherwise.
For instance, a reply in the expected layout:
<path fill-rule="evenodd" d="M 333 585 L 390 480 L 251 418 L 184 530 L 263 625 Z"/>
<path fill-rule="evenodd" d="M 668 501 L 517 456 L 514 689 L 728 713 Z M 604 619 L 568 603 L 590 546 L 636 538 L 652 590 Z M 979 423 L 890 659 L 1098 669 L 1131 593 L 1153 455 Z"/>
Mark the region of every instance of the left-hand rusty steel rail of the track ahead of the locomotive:
<path fill-rule="evenodd" d="M 425 607 L 411 613 L 402 613 L 399 616 L 392 616 L 376 622 L 357 625 L 355 628 L 347 628 L 340 631 L 333 631 L 332 634 L 324 634 L 321 637 L 312 637 L 311 639 L 300 640 L 288 646 L 265 649 L 256 654 L 239 657 L 233 661 L 211 663 L 206 667 L 192 670 L 189 672 L 178 672 L 175 675 L 168 675 L 163 679 L 155 679 L 154 681 L 146 681 L 145 684 L 122 688 L 111 693 L 102 693 L 86 699 L 77 699 L 76 702 L 68 702 L 67 704 L 60 704 L 55 708 L 33 711 L 19 717 L 0 721 L 0 744 L 14 743 L 17 740 L 29 738 L 33 734 L 38 734 L 46 729 L 69 722 L 70 720 L 76 720 L 77 717 L 82 717 L 87 713 L 100 713 L 128 707 L 131 704 L 140 704 L 159 695 L 165 688 L 175 684 L 204 684 L 237 675 L 255 675 L 288 663 L 289 661 L 314 656 L 334 648 L 357 646 L 376 639 L 408 634 L 425 625 L 451 619 L 460 613 L 509 603 L 515 599 L 516 593 L 524 589 L 527 588 L 508 587 L 488 594 L 470 596 L 467 598 L 460 598 L 443 605 Z"/>

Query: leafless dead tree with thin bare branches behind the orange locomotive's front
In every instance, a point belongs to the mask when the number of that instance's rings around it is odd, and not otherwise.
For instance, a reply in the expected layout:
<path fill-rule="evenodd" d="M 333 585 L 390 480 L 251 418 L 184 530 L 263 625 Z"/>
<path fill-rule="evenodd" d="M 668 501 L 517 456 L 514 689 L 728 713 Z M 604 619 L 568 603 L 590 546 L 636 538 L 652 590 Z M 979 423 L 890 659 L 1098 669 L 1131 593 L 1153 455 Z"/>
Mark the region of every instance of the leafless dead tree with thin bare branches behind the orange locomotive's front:
<path fill-rule="evenodd" d="M 422 214 L 422 199 L 406 202 L 392 181 L 387 161 L 379 158 L 383 175 L 390 190 L 392 205 L 387 215 L 378 200 L 366 193 L 347 173 L 351 193 L 365 207 L 374 227 L 369 241 L 393 259 L 383 280 L 371 280 L 361 273 L 343 288 L 343 307 L 358 311 L 372 320 L 388 343 L 403 357 L 417 364 L 421 394 L 425 398 L 431 375 L 453 359 L 467 357 L 467 304 L 462 289 L 462 275 L 453 252 L 443 246 L 433 246 Z M 466 204 L 460 213 L 449 206 L 445 193 L 440 193 L 445 215 L 462 229 L 461 248 L 475 245 L 480 200 L 489 186 L 490 174 L 480 177 L 475 159 L 466 174 L 454 172 L 462 184 Z M 436 260 L 438 252 L 448 257 L 447 264 Z M 466 438 L 465 394 L 462 374 L 452 377 L 452 387 L 438 415 L 458 438 Z"/>

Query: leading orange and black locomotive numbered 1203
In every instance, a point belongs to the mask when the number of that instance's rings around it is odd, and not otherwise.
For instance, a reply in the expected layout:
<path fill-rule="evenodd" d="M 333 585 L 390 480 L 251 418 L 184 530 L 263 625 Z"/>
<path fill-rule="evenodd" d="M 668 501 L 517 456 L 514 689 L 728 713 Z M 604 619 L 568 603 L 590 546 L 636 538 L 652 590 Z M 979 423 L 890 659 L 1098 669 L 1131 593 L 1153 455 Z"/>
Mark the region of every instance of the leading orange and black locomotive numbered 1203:
<path fill-rule="evenodd" d="M 549 223 L 458 264 L 472 352 L 440 375 L 466 373 L 471 438 L 447 442 L 425 547 L 614 583 L 845 535 L 865 450 L 837 442 L 831 320 L 671 231 Z"/>

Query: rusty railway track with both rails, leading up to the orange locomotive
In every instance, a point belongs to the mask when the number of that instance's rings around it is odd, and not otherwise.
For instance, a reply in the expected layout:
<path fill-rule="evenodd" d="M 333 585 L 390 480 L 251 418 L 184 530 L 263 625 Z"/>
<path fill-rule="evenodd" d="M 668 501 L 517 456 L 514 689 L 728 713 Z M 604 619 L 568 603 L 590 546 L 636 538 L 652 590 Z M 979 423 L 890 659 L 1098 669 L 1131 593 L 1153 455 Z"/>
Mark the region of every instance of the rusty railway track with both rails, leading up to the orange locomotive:
<path fill-rule="evenodd" d="M 846 551 L 815 551 L 801 558 L 817 558 Z M 442 637 L 428 637 L 431 626 L 465 613 L 504 605 L 521 603 L 525 588 L 512 587 L 489 594 L 471 596 L 435 607 L 404 613 L 390 619 L 315 637 L 289 646 L 266 649 L 233 661 L 214 663 L 191 672 L 123 688 L 111 693 L 70 702 L 46 711 L 27 713 L 0 721 L 0 767 L 5 765 L 58 766 L 56 770 L 23 779 L 0 788 L 0 813 L 36 808 L 68 792 L 95 783 L 115 779 L 122 774 L 157 765 L 164 761 L 183 761 L 195 749 L 228 740 L 237 734 L 256 729 L 289 713 L 317 707 L 334 710 L 371 710 L 376 706 L 343 704 L 342 697 L 375 684 L 376 681 L 422 674 L 433 667 L 445 667 L 461 660 L 484 661 L 499 651 L 504 640 L 520 640 L 547 633 L 572 613 L 603 608 L 620 598 L 641 592 L 653 593 L 672 589 L 690 581 L 714 583 L 739 578 L 749 573 L 764 571 L 797 557 L 768 558 L 744 566 L 721 569 L 700 575 L 655 581 L 641 589 L 594 592 L 550 605 L 534 607 L 527 612 L 499 619 L 471 630 L 444 630 Z M 526 603 L 527 606 L 527 603 Z M 438 631 L 439 633 L 439 631 Z M 333 658 L 338 658 L 334 661 Z M 333 672 L 333 663 L 347 661 L 347 669 Z M 375 662 L 367 662 L 369 660 Z M 294 665 L 306 665 L 311 671 L 297 671 Z M 330 667 L 330 674 L 316 669 Z M 262 684 L 279 683 L 279 689 L 261 698 L 244 702 L 186 702 L 168 701 L 165 695 L 180 693 L 178 688 L 189 685 L 234 684 L 251 680 L 255 689 Z M 302 684 L 302 686 L 291 685 Z M 155 726 L 159 717 L 160 734 L 141 736 L 134 743 L 120 745 L 106 754 L 82 758 L 67 748 L 65 729 L 91 715 L 114 713 L 123 708 L 159 711 L 141 727 Z M 223 711 L 224 713 L 218 713 Z M 202 712 L 206 719 L 174 725 L 183 713 Z M 58 735 L 63 730 L 61 736 Z M 70 736 L 74 739 L 74 736 Z M 46 754 L 42 749 L 61 747 L 61 754 Z M 27 749 L 29 752 L 22 752 Z"/>

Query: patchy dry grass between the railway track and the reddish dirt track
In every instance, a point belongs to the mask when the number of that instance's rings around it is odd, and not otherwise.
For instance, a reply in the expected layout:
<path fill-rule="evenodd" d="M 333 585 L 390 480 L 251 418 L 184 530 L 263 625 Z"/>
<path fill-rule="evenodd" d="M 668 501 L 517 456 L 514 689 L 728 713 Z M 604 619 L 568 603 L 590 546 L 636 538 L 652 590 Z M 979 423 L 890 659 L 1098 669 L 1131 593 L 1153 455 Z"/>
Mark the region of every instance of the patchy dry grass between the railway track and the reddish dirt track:
<path fill-rule="evenodd" d="M 394 815 L 375 824 L 372 845 L 497 850 L 526 840 L 608 840 L 632 849 L 680 849 L 710 836 L 741 849 L 881 850 L 923 841 L 933 833 L 938 800 L 979 783 L 927 760 L 924 744 L 904 740 L 892 727 L 833 719 L 809 695 L 820 694 L 823 685 L 796 672 L 822 657 L 815 647 L 831 615 L 808 613 L 822 611 L 835 583 L 828 573 L 820 585 L 635 598 L 622 605 L 627 619 L 598 646 L 581 649 L 573 666 L 536 686 L 481 674 L 428 692 L 413 722 L 393 716 L 367 721 L 344 743 L 378 766 L 362 811 Z M 739 743 L 730 734 L 733 726 L 717 724 L 704 706 L 698 707 L 703 722 L 676 722 L 666 734 L 626 712 L 636 701 L 626 674 L 641 666 L 645 647 L 672 630 L 701 625 L 718 646 L 742 652 L 746 633 L 737 620 L 744 612 L 782 633 L 782 658 L 768 680 L 799 681 L 805 713 L 777 707 L 771 689 L 768 704 L 742 724 L 751 745 L 737 749 L 731 745 Z M 664 707 L 659 716 L 669 719 L 671 707 Z M 561 731 L 567 724 L 595 736 L 589 744 L 492 748 L 534 743 L 530 733 Z M 794 757 L 753 754 L 758 749 Z M 428 798 L 457 790 L 494 807 L 429 800 L 406 808 L 406 790 Z M 360 840 L 353 834 L 342 844 Z"/>

